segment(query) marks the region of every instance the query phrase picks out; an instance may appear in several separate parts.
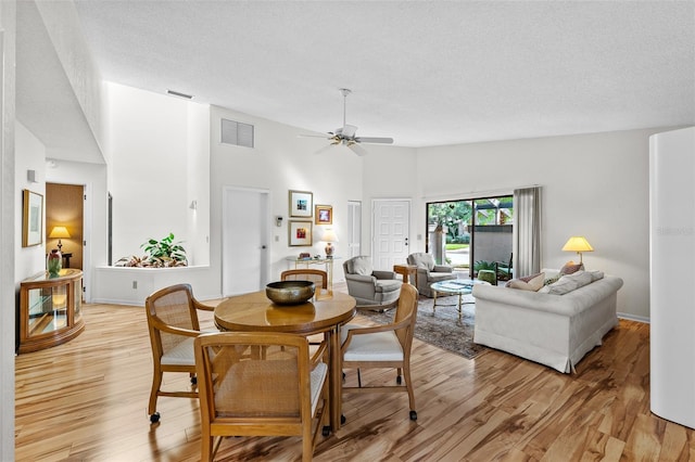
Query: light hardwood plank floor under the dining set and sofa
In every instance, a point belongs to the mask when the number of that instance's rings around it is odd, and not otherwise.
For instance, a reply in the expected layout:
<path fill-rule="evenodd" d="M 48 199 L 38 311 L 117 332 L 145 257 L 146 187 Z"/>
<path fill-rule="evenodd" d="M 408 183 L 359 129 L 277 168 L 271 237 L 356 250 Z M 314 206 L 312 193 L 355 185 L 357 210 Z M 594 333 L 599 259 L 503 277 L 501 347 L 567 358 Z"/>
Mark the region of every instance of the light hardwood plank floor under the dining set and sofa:
<path fill-rule="evenodd" d="M 143 308 L 86 305 L 74 341 L 16 358 L 17 461 L 195 461 L 197 400 L 160 398 Z M 210 323 L 210 319 L 205 321 Z M 649 412 L 649 326 L 621 320 L 566 375 L 488 350 L 475 360 L 415 341 L 418 420 L 405 394 L 346 395 L 345 425 L 316 461 L 687 461 L 694 433 Z M 369 373 L 364 380 L 392 381 Z M 354 381 L 349 372 L 349 381 Z M 184 374 L 166 386 L 186 386 Z M 295 460 L 298 438 L 228 438 L 218 460 Z"/>

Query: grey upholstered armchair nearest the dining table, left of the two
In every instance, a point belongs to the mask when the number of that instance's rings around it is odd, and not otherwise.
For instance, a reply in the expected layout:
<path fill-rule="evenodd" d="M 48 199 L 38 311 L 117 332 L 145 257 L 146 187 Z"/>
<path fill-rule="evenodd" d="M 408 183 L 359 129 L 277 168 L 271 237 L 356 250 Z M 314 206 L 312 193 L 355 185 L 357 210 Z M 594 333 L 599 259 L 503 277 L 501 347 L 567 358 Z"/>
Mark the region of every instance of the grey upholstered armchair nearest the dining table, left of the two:
<path fill-rule="evenodd" d="M 401 295 L 400 280 L 395 272 L 375 270 L 371 258 L 353 257 L 343 262 L 348 293 L 355 297 L 357 306 L 393 305 Z"/>

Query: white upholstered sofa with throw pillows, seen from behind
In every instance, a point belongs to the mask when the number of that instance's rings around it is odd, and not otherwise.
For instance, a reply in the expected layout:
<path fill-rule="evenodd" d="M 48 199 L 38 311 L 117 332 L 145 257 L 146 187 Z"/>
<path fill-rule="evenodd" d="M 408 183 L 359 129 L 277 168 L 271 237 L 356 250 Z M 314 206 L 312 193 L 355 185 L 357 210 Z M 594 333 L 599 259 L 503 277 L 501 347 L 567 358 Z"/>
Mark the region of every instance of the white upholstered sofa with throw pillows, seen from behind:
<path fill-rule="evenodd" d="M 557 270 L 543 272 L 546 279 L 557 274 Z M 576 278 L 581 279 L 580 273 L 586 278 L 590 272 L 580 271 Z M 598 272 L 594 273 L 595 279 Z M 564 278 L 556 284 L 571 282 Z M 621 286 L 622 279 L 611 275 L 564 295 L 477 284 L 473 342 L 559 372 L 574 372 L 574 364 L 618 323 L 616 301 Z"/>

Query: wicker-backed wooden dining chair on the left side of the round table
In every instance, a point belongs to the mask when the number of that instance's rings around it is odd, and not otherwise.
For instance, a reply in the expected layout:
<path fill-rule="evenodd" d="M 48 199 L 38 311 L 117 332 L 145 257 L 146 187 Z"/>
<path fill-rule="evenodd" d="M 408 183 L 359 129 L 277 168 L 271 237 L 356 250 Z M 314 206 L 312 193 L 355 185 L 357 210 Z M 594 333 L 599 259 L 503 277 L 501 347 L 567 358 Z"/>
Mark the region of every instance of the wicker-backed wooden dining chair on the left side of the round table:
<path fill-rule="evenodd" d="M 148 414 L 150 422 L 160 421 L 156 400 L 160 396 L 198 398 L 195 390 L 195 357 L 193 338 L 201 334 L 198 310 L 213 311 L 193 297 L 189 284 L 177 284 L 162 288 L 144 301 L 152 345 L 152 390 Z M 190 376 L 191 388 L 187 390 L 162 390 L 164 372 L 185 372 Z"/>

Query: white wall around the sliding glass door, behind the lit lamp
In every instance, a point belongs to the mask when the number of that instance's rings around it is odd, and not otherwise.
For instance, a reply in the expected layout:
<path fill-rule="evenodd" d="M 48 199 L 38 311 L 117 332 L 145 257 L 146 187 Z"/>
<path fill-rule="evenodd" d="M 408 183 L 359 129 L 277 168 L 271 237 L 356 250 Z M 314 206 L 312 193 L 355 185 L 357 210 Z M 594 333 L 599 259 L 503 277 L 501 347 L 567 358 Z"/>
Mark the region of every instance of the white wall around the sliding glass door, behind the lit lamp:
<path fill-rule="evenodd" d="M 418 149 L 421 196 L 414 202 L 414 222 L 424 227 L 428 200 L 539 184 L 542 267 L 559 268 L 577 259 L 560 248 L 569 236 L 584 235 L 595 249 L 584 254 L 585 266 L 624 280 L 618 311 L 648 319 L 648 137 L 658 131 L 662 129 Z M 399 178 L 384 181 L 382 189 L 401 188 Z"/>

